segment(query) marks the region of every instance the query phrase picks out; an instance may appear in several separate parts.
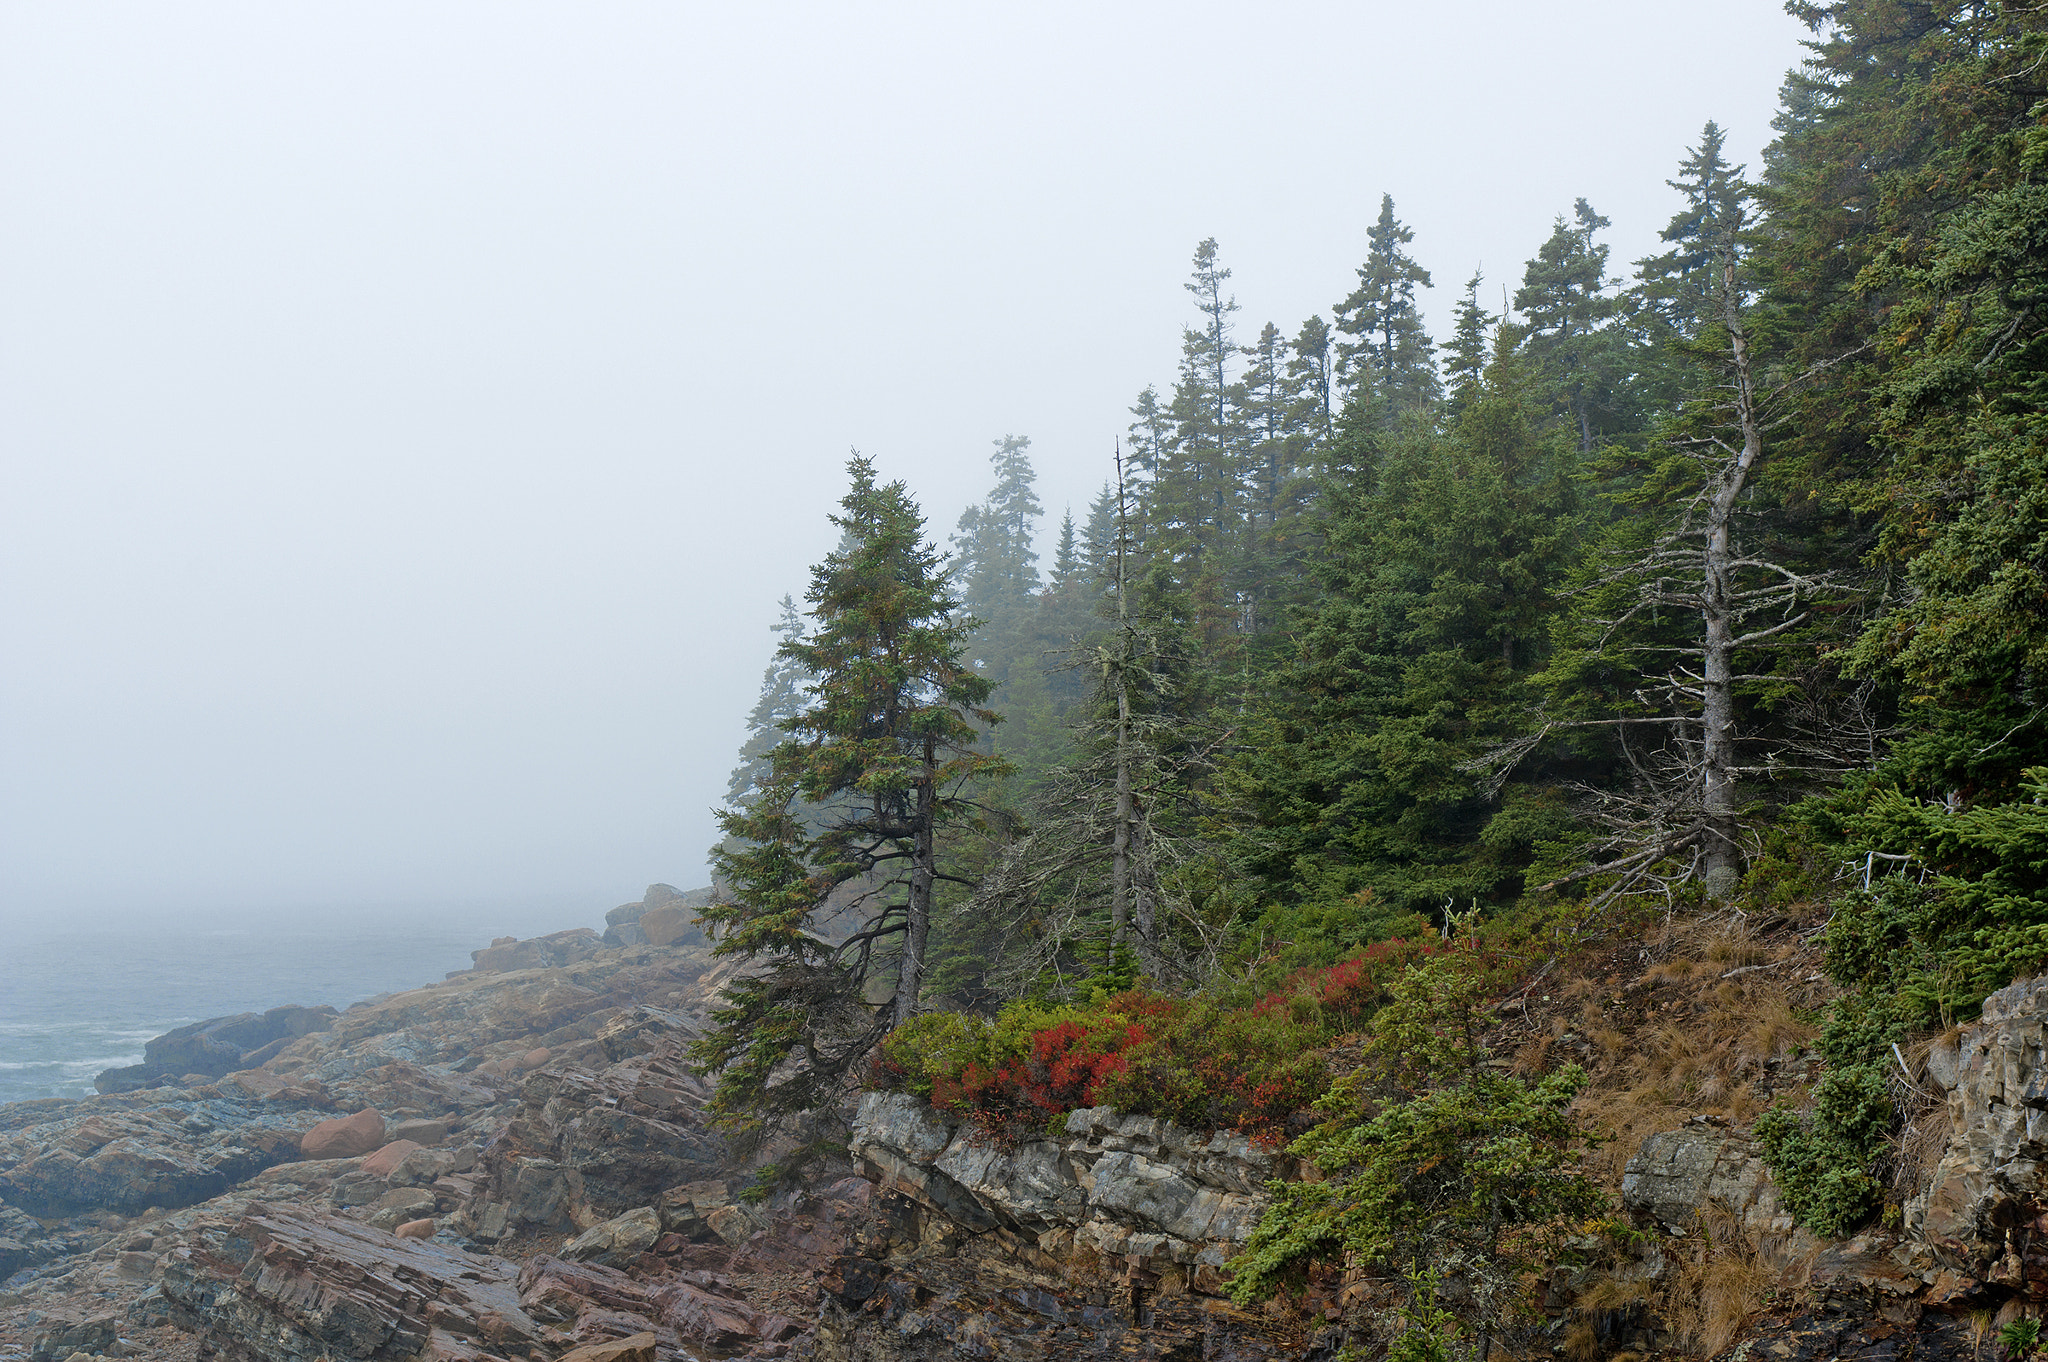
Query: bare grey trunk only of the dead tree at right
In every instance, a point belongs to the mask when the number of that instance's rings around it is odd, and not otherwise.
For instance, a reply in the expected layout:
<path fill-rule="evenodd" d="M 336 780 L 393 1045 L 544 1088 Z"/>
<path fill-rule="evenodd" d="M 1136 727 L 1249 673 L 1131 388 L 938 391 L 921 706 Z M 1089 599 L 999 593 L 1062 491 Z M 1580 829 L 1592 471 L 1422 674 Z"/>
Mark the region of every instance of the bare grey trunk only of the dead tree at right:
<path fill-rule="evenodd" d="M 1722 320 L 1729 328 L 1729 350 L 1735 369 L 1735 416 L 1743 432 L 1743 446 L 1720 473 L 1714 498 L 1706 510 L 1706 571 L 1700 584 L 1700 614 L 1706 625 L 1706 641 L 1700 655 L 1702 696 L 1700 696 L 1700 766 L 1702 784 L 1700 813 L 1704 817 L 1702 870 L 1706 891 L 1716 899 L 1735 893 L 1743 872 L 1741 844 L 1737 842 L 1737 799 L 1735 799 L 1735 569 L 1731 547 L 1731 520 L 1735 500 L 1763 453 L 1763 432 L 1757 424 L 1755 387 L 1749 375 L 1749 338 L 1743 334 L 1743 317 L 1737 307 L 1735 260 L 1722 262 L 1720 289 Z"/>

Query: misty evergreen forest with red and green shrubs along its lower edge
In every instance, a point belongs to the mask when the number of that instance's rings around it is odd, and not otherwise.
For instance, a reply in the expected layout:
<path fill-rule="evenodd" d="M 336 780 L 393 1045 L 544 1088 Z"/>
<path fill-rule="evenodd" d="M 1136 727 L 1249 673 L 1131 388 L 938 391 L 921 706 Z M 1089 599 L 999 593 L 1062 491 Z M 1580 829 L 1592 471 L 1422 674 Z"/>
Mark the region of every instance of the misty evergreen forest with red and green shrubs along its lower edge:
<path fill-rule="evenodd" d="M 1503 1204 L 1581 1204 L 1573 1079 L 1444 1018 L 1597 934 L 1827 901 L 1829 1079 L 1765 1129 L 1806 1223 L 1878 1212 L 1868 1065 L 2048 965 L 2048 12 L 1790 8 L 1776 139 L 1673 147 L 1661 254 L 1579 199 L 1432 336 L 1391 197 L 1292 328 L 1196 246 L 1171 383 L 1049 563 L 1026 438 L 944 549 L 854 457 L 723 813 L 735 1129 L 829 1145 L 874 1081 L 991 1129 L 1110 1102 L 1331 1174 L 1241 1292 L 1499 1253 Z M 1524 1135 L 1485 1196 L 1481 1129 Z M 1470 1204 L 1366 1194 L 1395 1147 Z"/>

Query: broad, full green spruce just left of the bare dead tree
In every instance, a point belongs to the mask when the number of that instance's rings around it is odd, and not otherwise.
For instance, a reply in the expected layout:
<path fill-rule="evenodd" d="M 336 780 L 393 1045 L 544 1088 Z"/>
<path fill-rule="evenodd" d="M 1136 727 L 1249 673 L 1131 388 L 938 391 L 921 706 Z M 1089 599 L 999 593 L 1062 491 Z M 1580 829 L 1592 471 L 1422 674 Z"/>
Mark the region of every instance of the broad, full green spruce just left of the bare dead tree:
<path fill-rule="evenodd" d="M 1470 764 L 1520 731 L 1546 657 L 1577 541 L 1571 465 L 1505 391 L 1337 481 L 1323 590 L 1229 768 L 1257 817 L 1233 858 L 1307 913 L 1276 932 L 1372 940 L 1389 913 L 1520 889 L 1554 801 L 1534 772 L 1493 791 Z"/>

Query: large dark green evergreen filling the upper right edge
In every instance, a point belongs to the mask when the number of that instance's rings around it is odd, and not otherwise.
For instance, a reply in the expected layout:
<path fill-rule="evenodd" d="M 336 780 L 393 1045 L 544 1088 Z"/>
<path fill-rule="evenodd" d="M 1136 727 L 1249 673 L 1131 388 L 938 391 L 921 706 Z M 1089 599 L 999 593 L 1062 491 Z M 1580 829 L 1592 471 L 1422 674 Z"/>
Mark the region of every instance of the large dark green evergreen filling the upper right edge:
<path fill-rule="evenodd" d="M 1853 653 L 1896 696 L 1880 778 L 1952 809 L 2017 799 L 2048 762 L 2048 31 L 2025 4 L 1794 12 L 1812 59 L 1765 154 L 1763 268 L 1810 377 L 1776 492 L 1837 561 L 1882 573 Z"/>

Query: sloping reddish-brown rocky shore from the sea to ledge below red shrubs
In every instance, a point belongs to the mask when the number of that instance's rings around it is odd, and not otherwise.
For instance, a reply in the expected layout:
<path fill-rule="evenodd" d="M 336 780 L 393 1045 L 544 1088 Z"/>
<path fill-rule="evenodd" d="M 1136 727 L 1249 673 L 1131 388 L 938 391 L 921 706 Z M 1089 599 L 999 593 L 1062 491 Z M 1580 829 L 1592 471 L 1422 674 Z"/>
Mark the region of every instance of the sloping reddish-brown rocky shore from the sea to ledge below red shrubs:
<path fill-rule="evenodd" d="M 471 971 L 340 1012 L 213 1018 L 102 1075 L 100 1096 L 0 1108 L 0 1358 L 987 1352 L 973 1339 L 1108 1358 L 1196 1356 L 1200 1337 L 1262 1358 L 1298 1342 L 1294 1321 L 1190 1290 L 1192 1274 L 1214 1286 L 1266 1165 L 1202 1192 L 1223 1237 L 1194 1249 L 1200 1264 L 1176 1239 L 1190 1262 L 1161 1290 L 1130 1264 L 1147 1262 L 1145 1235 L 1163 1243 L 1149 1217 L 1188 1229 L 1186 1204 L 1163 1206 L 1194 1194 L 1151 1186 L 1161 1133 L 1120 1131 L 1112 1112 L 1079 1167 L 1126 1176 L 1090 1176 L 1108 1200 L 1085 1243 L 1055 1223 L 1085 1210 L 1071 1178 L 1055 1221 L 1018 1219 L 1034 1176 L 1059 1182 L 1034 1147 L 1024 1165 L 979 1159 L 979 1176 L 942 1159 L 965 1182 L 842 1163 L 743 1200 L 752 1167 L 705 1120 L 709 1090 L 684 1063 L 735 969 L 688 916 L 653 887 L 602 936 L 502 938 Z M 874 1159 L 932 1129 L 881 1094 L 862 1116 Z M 977 1196 L 1008 1200 L 973 1212 Z"/>

